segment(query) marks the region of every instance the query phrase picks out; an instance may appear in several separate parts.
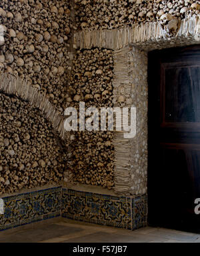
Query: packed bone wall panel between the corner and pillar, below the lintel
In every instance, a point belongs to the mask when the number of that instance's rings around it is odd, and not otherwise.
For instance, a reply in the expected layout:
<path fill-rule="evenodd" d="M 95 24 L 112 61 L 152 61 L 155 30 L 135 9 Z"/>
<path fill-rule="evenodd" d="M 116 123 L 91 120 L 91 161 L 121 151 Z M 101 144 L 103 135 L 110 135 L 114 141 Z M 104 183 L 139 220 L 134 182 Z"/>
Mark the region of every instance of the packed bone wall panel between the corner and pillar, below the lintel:
<path fill-rule="evenodd" d="M 87 107 L 112 107 L 113 51 L 91 49 L 77 51 L 69 83 L 68 105 L 79 110 Z M 72 180 L 87 185 L 113 187 L 113 132 L 77 131 L 71 134 L 69 171 Z"/>

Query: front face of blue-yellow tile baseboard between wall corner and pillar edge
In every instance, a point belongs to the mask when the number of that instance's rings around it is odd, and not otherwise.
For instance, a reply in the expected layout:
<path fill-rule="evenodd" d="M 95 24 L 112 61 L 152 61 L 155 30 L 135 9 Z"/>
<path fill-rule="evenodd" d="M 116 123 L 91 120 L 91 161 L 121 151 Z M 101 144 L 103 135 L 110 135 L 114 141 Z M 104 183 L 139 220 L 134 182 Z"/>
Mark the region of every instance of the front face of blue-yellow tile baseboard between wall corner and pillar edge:
<path fill-rule="evenodd" d="M 131 201 L 125 197 L 114 197 L 97 193 L 64 191 L 65 207 L 62 205 L 62 216 L 71 219 L 103 223 L 114 227 L 129 228 L 131 225 Z"/>

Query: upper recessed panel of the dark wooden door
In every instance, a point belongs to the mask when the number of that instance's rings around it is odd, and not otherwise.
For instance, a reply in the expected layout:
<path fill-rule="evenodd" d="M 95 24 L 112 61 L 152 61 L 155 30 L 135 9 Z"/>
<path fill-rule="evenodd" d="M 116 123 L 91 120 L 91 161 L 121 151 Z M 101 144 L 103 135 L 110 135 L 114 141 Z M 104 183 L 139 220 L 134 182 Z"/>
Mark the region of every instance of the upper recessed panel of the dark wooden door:
<path fill-rule="evenodd" d="M 164 122 L 199 122 L 200 98 L 197 81 L 200 67 L 173 67 L 165 69 Z M 171 79 L 174 77 L 174 79 Z M 173 99 L 173 101 L 171 101 Z"/>

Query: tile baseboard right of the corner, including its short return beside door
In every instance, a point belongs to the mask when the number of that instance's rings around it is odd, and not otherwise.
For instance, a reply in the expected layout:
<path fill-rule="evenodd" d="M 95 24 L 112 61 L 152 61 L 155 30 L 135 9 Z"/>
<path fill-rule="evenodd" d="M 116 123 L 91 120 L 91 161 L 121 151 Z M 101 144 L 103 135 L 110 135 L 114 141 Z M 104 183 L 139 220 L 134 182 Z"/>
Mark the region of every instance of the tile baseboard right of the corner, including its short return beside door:
<path fill-rule="evenodd" d="M 147 225 L 147 195 L 115 197 L 63 188 L 62 217 L 138 229 Z"/>

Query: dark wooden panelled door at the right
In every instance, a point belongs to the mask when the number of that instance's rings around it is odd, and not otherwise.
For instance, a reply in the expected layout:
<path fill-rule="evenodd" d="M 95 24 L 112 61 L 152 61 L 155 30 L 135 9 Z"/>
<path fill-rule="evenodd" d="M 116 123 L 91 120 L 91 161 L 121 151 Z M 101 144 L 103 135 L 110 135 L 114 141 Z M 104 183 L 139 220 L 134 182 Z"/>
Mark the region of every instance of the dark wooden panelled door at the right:
<path fill-rule="evenodd" d="M 200 45 L 149 53 L 149 225 L 200 231 Z"/>

